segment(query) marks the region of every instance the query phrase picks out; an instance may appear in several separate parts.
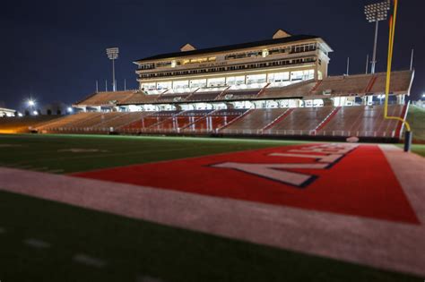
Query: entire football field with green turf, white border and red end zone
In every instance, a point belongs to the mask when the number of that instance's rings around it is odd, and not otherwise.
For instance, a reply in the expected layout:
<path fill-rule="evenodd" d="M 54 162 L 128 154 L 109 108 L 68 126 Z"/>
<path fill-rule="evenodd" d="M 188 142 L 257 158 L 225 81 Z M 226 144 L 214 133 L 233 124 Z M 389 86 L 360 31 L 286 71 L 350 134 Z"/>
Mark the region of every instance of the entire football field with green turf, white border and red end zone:
<path fill-rule="evenodd" d="M 0 135 L 0 280 L 423 281 L 424 148 Z"/>

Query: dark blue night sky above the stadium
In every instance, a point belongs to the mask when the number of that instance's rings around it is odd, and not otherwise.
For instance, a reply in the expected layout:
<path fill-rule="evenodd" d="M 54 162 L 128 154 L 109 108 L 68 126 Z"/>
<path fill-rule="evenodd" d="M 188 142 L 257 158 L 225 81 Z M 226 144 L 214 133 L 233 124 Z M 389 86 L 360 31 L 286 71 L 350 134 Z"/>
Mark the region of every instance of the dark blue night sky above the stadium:
<path fill-rule="evenodd" d="M 372 53 L 374 25 L 365 0 L 4 0 L 0 9 L 0 104 L 22 108 L 32 95 L 39 104 L 71 104 L 95 90 L 111 90 L 106 47 L 119 47 L 118 90 L 136 89 L 135 64 L 145 56 L 176 52 L 191 43 L 215 47 L 272 38 L 277 29 L 324 38 L 334 48 L 329 73 L 364 73 Z M 376 1 L 372 1 L 376 2 Z M 395 70 L 416 69 L 412 95 L 425 92 L 423 0 L 400 0 Z M 386 70 L 387 23 L 381 21 L 377 72 Z"/>

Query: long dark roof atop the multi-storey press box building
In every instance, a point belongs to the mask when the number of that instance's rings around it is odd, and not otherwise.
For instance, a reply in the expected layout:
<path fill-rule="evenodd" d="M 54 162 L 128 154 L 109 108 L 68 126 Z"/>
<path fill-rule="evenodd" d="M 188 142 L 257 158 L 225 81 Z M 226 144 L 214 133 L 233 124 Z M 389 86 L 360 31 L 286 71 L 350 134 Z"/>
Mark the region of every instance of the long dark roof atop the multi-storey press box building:
<path fill-rule="evenodd" d="M 316 39 L 316 38 L 319 38 L 319 37 L 317 37 L 316 35 L 293 35 L 287 38 L 266 39 L 261 41 L 239 43 L 234 45 L 196 49 L 193 51 L 175 52 L 175 53 L 160 54 L 156 56 L 148 56 L 148 57 L 139 59 L 135 61 L 134 63 L 154 61 L 154 60 L 167 59 L 167 58 L 176 58 L 176 57 L 182 57 L 182 56 L 193 56 L 193 55 L 209 54 L 209 53 L 216 53 L 216 52 L 224 52 L 224 51 L 238 50 L 238 49 L 244 49 L 244 48 L 250 48 L 250 47 L 262 47 L 262 46 L 290 43 L 295 41 Z"/>

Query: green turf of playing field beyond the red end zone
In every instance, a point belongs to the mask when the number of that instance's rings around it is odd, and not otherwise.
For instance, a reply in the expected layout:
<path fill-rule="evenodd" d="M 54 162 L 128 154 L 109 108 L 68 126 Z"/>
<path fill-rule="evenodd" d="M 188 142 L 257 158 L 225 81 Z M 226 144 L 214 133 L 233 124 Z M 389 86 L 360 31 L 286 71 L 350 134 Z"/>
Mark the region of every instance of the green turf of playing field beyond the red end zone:
<path fill-rule="evenodd" d="M 72 173 L 299 143 L 301 142 L 161 136 L 0 135 L 0 166 Z M 16 147 L 1 147 L 2 144 Z M 69 149 L 101 151 L 60 151 Z"/>

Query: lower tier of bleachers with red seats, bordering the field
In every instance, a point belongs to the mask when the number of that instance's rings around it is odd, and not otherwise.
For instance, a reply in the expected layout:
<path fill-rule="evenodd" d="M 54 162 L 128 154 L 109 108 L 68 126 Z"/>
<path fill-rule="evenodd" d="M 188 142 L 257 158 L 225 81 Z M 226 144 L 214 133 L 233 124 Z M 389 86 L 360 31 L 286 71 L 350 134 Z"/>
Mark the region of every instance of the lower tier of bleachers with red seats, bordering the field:
<path fill-rule="evenodd" d="M 388 114 L 402 116 L 403 105 Z M 39 132 L 173 132 L 397 138 L 400 122 L 383 106 L 79 113 L 36 126 Z M 10 119 L 10 118 L 4 118 Z M 0 119 L 0 124 L 3 119 Z M 112 129 L 111 129 L 112 127 Z M 0 126 L 1 129 L 1 126 Z"/>

